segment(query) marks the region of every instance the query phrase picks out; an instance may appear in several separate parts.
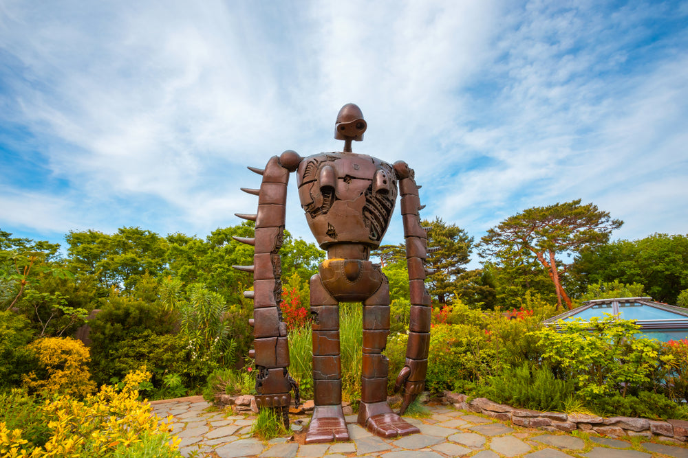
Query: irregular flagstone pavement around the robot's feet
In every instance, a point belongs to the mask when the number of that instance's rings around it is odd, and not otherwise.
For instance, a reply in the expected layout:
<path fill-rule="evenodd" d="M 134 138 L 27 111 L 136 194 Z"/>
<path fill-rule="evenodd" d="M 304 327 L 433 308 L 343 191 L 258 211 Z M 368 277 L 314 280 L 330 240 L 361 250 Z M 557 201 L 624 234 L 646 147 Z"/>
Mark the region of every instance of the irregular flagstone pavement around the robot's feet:
<path fill-rule="evenodd" d="M 290 415 L 294 438 L 280 437 L 261 442 L 251 437 L 255 416 L 213 411 L 200 396 L 155 401 L 153 412 L 173 415 L 173 434 L 182 442 L 180 452 L 198 457 L 325 457 L 343 458 L 688 458 L 688 444 L 648 442 L 647 437 L 608 439 L 593 435 L 550 434 L 534 428 L 506 425 L 488 417 L 444 406 L 429 407 L 429 417 L 405 417 L 420 428 L 420 434 L 380 439 L 347 415 L 351 442 L 303 445 L 309 415 Z"/>

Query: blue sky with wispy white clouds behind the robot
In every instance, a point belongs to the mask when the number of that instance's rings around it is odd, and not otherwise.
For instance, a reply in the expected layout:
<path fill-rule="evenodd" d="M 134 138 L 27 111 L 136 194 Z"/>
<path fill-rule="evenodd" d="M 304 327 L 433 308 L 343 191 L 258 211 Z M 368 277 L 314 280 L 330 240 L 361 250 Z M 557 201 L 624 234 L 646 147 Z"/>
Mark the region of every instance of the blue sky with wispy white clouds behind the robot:
<path fill-rule="evenodd" d="M 255 210 L 246 165 L 341 150 L 347 102 L 354 152 L 476 240 L 576 198 L 614 238 L 688 233 L 685 1 L 0 0 L 0 229 L 204 238 Z"/>

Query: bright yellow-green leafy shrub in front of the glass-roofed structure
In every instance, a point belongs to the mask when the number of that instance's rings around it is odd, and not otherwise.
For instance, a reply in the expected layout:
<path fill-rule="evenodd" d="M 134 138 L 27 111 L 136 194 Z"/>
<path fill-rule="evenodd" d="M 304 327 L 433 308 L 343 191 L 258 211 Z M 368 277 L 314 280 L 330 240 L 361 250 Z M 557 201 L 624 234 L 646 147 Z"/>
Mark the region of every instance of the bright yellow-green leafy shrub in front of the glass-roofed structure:
<path fill-rule="evenodd" d="M 559 378 L 572 380 L 577 393 L 588 402 L 597 397 L 636 393 L 652 384 L 658 362 L 658 341 L 634 336 L 638 325 L 608 315 L 559 321 L 559 331 L 544 327 L 535 331 L 542 358 Z"/>

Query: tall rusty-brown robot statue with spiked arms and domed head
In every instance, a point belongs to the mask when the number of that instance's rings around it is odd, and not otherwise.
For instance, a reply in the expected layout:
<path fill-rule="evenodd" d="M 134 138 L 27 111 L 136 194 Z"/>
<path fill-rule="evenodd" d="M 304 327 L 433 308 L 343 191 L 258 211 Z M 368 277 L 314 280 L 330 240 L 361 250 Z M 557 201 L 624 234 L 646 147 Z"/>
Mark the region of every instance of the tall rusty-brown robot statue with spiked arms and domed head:
<path fill-rule="evenodd" d="M 308 226 L 327 251 L 327 260 L 310 279 L 315 408 L 305 442 L 349 440 L 341 407 L 339 347 L 340 301 L 363 303 L 363 377 L 358 424 L 381 437 L 418 433 L 387 404 L 389 362 L 382 354 L 389 334 L 389 284 L 378 264 L 369 261 L 370 250 L 380 245 L 387 231 L 398 192 L 406 238 L 411 291 L 411 315 L 406 364 L 396 378 L 402 389 L 404 413 L 423 389 L 430 343 L 430 297 L 423 262 L 427 234 L 420 227 L 422 209 L 413 170 L 402 161 L 389 165 L 380 159 L 354 154 L 352 140 L 363 140 L 367 124 L 354 104 L 341 108 L 334 138 L 343 140 L 343 152 L 323 152 L 302 158 L 294 151 L 272 157 L 259 190 L 241 188 L 258 196 L 257 214 L 237 214 L 255 221 L 255 238 L 235 238 L 255 246 L 253 266 L 234 266 L 253 273 L 254 350 L 257 369 L 255 400 L 259 409 L 280 411 L 288 422 L 290 389 L 286 324 L 281 319 L 279 248 L 285 221 L 287 182 L 297 172 L 299 198 Z M 297 387 L 295 387 L 297 388 Z M 298 396 L 298 394 L 297 394 Z"/>

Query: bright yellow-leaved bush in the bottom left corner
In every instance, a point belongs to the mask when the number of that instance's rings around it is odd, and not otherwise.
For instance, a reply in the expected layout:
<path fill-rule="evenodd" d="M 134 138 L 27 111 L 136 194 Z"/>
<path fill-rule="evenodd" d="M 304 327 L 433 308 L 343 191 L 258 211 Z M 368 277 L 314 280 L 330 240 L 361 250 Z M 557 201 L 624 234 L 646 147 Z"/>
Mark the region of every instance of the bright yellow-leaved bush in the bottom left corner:
<path fill-rule="evenodd" d="M 45 446 L 27 450 L 21 430 L 0 423 L 0 456 L 2 457 L 179 457 L 180 439 L 170 440 L 171 417 L 160 421 L 151 415 L 151 406 L 139 402 L 138 385 L 149 380 L 145 369 L 127 374 L 125 387 L 118 392 L 104 385 L 95 395 L 84 400 L 57 396 L 47 400 L 43 411 L 51 436 Z"/>

